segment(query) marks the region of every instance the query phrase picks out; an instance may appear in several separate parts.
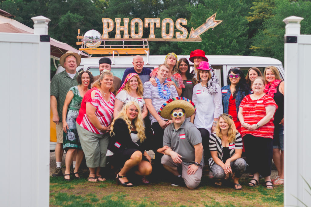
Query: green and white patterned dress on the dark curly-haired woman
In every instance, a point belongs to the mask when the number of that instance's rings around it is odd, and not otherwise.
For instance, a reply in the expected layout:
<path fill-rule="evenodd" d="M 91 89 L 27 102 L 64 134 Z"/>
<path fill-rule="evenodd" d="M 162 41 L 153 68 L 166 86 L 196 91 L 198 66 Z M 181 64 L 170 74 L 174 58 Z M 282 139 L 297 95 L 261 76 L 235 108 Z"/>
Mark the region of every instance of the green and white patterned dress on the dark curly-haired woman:
<path fill-rule="evenodd" d="M 63 149 L 67 152 L 69 148 L 81 148 L 79 135 L 77 133 L 76 119 L 82 102 L 78 86 L 71 87 L 73 98 L 68 106 L 66 122 L 68 124 L 67 133 L 64 132 Z"/>

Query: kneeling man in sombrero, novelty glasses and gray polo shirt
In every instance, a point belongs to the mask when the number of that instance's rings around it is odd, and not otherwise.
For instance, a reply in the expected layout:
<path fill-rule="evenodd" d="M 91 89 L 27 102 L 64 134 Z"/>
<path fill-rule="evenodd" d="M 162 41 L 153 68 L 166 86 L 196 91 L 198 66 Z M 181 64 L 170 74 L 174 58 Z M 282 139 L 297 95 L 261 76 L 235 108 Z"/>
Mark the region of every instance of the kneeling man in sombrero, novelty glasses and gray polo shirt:
<path fill-rule="evenodd" d="M 164 154 L 161 159 L 164 168 L 174 175 L 172 186 L 184 181 L 189 189 L 194 189 L 201 182 L 202 138 L 194 124 L 186 120 L 195 110 L 193 102 L 184 97 L 169 99 L 159 110 L 161 117 L 173 120 L 165 128 L 163 147 L 157 150 Z"/>

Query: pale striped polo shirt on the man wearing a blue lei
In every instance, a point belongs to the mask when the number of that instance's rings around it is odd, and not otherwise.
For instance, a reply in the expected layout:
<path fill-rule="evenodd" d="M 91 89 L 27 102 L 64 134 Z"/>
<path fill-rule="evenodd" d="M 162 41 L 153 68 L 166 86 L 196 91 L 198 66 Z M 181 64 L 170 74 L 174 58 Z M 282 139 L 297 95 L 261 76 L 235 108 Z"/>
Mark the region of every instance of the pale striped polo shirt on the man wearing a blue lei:
<path fill-rule="evenodd" d="M 166 83 L 165 81 L 164 83 Z M 164 89 L 164 83 L 161 84 L 161 91 L 166 95 L 165 89 Z M 144 83 L 144 93 L 143 97 L 144 99 L 151 99 L 152 100 L 152 106 L 155 108 L 156 112 L 160 110 L 161 106 L 169 99 L 178 97 L 178 93 L 176 91 L 176 88 L 174 85 L 171 85 L 169 87 L 170 95 L 168 99 L 161 98 L 158 91 L 158 86 L 153 86 L 150 81 L 147 81 Z M 151 124 L 157 122 L 156 118 L 154 118 L 151 113 L 149 112 L 149 119 L 151 121 Z M 162 120 L 167 120 L 161 117 Z"/>

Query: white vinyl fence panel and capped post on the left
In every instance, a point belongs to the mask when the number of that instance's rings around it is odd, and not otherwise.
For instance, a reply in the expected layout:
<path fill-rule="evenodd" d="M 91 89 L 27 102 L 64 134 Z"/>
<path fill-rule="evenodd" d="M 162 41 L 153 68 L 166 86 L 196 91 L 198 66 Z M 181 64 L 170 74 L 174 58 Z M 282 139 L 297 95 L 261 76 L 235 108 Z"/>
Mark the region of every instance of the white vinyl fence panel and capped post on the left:
<path fill-rule="evenodd" d="M 49 19 L 0 33 L 0 205 L 49 206 Z"/>

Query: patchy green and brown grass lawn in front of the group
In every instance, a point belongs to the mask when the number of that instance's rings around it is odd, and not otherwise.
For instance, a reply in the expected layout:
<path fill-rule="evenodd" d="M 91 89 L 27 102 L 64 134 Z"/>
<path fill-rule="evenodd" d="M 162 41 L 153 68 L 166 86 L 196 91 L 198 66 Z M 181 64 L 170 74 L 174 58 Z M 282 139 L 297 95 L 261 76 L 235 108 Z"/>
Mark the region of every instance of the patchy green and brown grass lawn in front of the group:
<path fill-rule="evenodd" d="M 88 175 L 88 174 L 87 174 Z M 83 177 L 87 177 L 83 176 Z M 202 177 L 197 189 L 172 187 L 169 182 L 134 187 L 116 185 L 113 179 L 88 182 L 85 178 L 65 181 L 50 178 L 50 206 L 283 206 L 283 185 L 267 190 L 264 186 L 248 187 L 250 179 L 240 179 L 243 189 L 232 188 L 232 180 L 214 187 L 213 180 Z M 264 179 L 260 179 L 261 184 Z"/>

